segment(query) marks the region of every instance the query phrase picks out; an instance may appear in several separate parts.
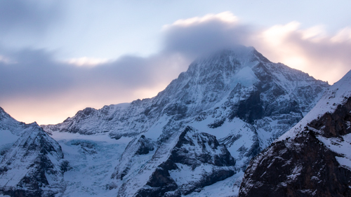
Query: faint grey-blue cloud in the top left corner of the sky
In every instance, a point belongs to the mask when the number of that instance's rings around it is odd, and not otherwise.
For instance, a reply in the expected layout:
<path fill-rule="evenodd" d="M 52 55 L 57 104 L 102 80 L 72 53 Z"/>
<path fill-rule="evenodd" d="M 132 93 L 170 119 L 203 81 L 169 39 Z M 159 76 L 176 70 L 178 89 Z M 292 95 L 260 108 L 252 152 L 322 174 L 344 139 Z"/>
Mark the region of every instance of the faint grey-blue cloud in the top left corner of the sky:
<path fill-rule="evenodd" d="M 0 1 L 0 42 L 18 47 L 40 41 L 60 21 L 63 7 L 55 0 Z"/>

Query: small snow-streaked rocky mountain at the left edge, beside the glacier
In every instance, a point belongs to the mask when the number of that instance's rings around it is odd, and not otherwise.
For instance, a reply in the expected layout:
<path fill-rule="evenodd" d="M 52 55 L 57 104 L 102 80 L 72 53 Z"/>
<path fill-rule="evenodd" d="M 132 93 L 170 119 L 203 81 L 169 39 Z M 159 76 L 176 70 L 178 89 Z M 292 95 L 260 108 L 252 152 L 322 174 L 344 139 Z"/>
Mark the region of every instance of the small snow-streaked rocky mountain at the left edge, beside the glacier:
<path fill-rule="evenodd" d="M 0 108 L 0 193 L 52 196 L 64 190 L 67 161 L 58 142 L 37 123 L 15 121 Z"/>

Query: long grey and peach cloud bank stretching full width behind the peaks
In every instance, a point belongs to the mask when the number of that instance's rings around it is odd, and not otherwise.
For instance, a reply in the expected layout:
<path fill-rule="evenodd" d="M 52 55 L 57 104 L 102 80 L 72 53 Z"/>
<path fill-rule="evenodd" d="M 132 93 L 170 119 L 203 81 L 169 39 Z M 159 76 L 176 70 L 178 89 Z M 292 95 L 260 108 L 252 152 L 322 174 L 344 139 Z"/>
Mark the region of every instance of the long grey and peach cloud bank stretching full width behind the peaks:
<path fill-rule="evenodd" d="M 350 27 L 334 35 L 298 22 L 263 28 L 225 12 L 177 20 L 161 31 L 163 49 L 150 57 L 55 60 L 53 51 L 0 46 L 0 106 L 19 121 L 58 123 L 84 107 L 152 97 L 194 58 L 236 44 L 329 83 L 351 69 Z"/>

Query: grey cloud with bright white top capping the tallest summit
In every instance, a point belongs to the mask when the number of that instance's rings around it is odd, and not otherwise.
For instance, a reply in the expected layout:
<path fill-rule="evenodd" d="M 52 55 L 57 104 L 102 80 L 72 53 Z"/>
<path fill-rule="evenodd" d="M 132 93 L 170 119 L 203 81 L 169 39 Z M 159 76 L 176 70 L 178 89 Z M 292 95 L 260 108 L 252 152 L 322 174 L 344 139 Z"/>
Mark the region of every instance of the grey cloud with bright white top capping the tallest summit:
<path fill-rule="evenodd" d="M 251 34 L 249 25 L 241 25 L 229 12 L 177 20 L 163 31 L 164 50 L 192 58 L 246 43 Z"/>

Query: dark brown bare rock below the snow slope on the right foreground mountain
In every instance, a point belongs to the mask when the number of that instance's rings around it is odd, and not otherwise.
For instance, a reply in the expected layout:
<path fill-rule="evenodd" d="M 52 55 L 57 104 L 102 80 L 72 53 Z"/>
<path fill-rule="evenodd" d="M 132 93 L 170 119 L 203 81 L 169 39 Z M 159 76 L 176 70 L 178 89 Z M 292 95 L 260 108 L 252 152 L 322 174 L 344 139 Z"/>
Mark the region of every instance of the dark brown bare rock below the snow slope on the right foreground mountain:
<path fill-rule="evenodd" d="M 351 97 L 295 137 L 274 142 L 251 161 L 239 196 L 351 196 L 351 170 L 336 159 L 344 155 L 324 143 L 346 140 L 350 111 Z"/>

